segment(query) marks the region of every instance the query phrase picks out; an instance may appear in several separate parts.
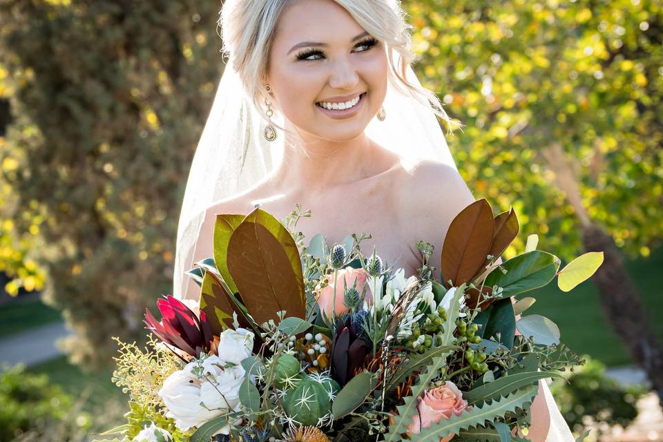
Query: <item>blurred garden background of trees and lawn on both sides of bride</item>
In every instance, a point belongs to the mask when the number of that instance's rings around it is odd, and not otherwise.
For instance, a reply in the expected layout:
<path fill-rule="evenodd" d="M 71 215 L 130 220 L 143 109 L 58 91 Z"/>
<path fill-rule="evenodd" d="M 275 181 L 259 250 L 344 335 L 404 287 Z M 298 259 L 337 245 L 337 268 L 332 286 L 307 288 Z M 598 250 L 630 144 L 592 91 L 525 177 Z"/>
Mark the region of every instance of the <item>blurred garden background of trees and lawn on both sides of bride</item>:
<path fill-rule="evenodd" d="M 662 441 L 663 6 L 403 1 L 415 70 L 463 124 L 475 198 L 564 262 L 536 291 L 588 363 L 553 385 L 588 441 Z M 223 69 L 219 1 L 0 0 L 0 442 L 123 423 L 111 340 L 171 290 L 195 145 Z M 563 264 L 564 265 L 564 264 Z"/>

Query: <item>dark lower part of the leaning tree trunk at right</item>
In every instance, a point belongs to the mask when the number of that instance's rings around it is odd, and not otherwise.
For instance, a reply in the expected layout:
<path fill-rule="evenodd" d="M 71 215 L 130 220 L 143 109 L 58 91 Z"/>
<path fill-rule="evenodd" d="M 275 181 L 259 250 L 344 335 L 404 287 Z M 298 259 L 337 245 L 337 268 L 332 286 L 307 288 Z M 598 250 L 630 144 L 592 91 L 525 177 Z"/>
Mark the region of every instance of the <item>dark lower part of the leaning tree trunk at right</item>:
<path fill-rule="evenodd" d="M 646 371 L 663 404 L 663 350 L 622 264 L 622 256 L 613 238 L 595 224 L 584 227 L 582 239 L 586 251 L 604 252 L 604 262 L 592 277 L 599 289 L 601 305 L 633 361 Z"/>

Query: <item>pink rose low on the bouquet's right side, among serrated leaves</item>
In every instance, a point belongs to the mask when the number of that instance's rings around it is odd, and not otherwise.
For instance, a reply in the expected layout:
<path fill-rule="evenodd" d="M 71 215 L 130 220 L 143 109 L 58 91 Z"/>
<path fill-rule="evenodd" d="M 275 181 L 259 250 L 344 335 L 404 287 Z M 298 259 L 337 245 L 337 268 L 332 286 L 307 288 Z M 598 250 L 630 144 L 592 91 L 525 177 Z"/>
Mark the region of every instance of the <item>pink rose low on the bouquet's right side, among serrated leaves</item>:
<path fill-rule="evenodd" d="M 463 399 L 461 390 L 454 383 L 447 381 L 441 387 L 432 388 L 419 397 L 417 410 L 412 423 L 407 425 L 407 430 L 413 434 L 419 434 L 421 427 L 430 427 L 431 423 L 440 423 L 442 418 L 450 419 L 452 414 L 460 416 L 463 410 L 472 410 L 468 407 L 468 401 Z M 449 442 L 454 434 L 440 438 L 440 442 Z"/>

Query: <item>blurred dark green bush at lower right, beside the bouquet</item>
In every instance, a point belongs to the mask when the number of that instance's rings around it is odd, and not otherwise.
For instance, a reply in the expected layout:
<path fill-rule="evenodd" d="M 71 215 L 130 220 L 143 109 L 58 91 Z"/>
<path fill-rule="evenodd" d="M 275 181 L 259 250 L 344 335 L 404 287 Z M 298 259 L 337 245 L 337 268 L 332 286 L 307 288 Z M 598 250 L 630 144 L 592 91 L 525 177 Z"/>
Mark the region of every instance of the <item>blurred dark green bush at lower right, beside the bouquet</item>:
<path fill-rule="evenodd" d="M 575 430 L 582 430 L 583 416 L 591 416 L 597 423 L 626 427 L 637 417 L 635 403 L 646 389 L 622 387 L 605 375 L 605 366 L 601 362 L 585 358 L 585 365 L 576 367 L 568 376 L 568 382 L 550 386 L 559 411 Z"/>

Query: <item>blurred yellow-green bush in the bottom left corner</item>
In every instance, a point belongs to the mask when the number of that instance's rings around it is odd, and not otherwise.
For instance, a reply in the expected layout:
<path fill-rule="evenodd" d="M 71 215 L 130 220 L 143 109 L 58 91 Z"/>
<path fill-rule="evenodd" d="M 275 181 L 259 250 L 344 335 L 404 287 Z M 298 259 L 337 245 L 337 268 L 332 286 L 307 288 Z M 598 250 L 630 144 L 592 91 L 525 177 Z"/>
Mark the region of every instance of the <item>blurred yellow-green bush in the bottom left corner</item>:
<path fill-rule="evenodd" d="M 75 410 L 73 399 L 61 387 L 22 366 L 0 372 L 0 403 L 0 441 L 23 434 L 69 441 L 91 425 L 90 416 Z"/>

